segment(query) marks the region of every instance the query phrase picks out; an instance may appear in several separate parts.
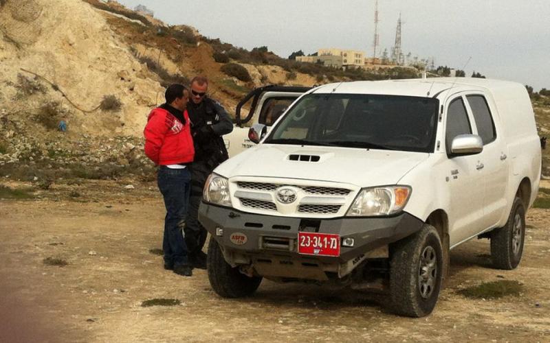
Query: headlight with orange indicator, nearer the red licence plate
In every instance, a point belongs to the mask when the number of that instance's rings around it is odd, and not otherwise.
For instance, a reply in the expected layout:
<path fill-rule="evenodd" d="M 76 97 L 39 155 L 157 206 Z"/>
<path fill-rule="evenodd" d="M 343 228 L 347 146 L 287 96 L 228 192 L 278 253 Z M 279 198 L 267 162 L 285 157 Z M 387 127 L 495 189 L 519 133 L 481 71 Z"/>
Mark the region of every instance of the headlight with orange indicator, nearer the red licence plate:
<path fill-rule="evenodd" d="M 351 204 L 347 215 L 370 217 L 395 214 L 405 207 L 410 192 L 408 186 L 362 189 Z"/>

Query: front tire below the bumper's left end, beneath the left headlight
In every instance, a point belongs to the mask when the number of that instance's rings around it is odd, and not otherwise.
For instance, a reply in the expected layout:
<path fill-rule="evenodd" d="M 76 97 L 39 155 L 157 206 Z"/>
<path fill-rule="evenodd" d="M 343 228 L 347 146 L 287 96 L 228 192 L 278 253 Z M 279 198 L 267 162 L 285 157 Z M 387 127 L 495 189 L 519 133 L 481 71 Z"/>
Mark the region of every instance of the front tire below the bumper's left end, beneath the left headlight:
<path fill-rule="evenodd" d="M 250 296 L 258 289 L 262 282 L 261 277 L 250 277 L 239 272 L 239 268 L 232 268 L 223 259 L 223 253 L 214 237 L 208 243 L 206 257 L 208 280 L 214 292 L 223 298 L 242 298 Z"/>

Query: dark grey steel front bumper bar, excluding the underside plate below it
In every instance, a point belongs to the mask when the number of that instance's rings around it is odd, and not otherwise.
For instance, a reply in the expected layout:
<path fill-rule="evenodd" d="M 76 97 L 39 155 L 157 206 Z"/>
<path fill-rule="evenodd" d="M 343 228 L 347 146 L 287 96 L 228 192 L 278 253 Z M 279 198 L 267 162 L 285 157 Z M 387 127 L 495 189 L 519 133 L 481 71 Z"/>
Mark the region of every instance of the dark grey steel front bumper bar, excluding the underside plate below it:
<path fill-rule="evenodd" d="M 316 219 L 258 215 L 214 206 L 203 202 L 199 222 L 221 247 L 246 254 L 276 254 L 301 257 L 297 252 L 298 231 L 332 233 L 341 239 L 351 237 L 353 247 L 341 246 L 340 257 L 317 257 L 325 263 L 344 263 L 369 251 L 391 244 L 419 231 L 423 222 L 408 213 L 393 217 L 341 217 Z M 223 235 L 216 234 L 217 228 Z M 233 233 L 245 239 L 230 239 Z M 241 236 L 241 235 L 239 235 Z"/>

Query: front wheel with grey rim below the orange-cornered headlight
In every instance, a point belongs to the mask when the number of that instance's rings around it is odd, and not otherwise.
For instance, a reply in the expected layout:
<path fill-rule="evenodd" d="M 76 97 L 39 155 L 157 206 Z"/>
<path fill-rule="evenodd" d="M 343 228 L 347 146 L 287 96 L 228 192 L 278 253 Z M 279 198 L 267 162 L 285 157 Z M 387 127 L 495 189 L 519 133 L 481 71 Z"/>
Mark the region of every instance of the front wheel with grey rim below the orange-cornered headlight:
<path fill-rule="evenodd" d="M 443 279 L 443 250 L 437 230 L 424 224 L 419 232 L 391 247 L 391 309 L 408 317 L 432 313 Z"/>

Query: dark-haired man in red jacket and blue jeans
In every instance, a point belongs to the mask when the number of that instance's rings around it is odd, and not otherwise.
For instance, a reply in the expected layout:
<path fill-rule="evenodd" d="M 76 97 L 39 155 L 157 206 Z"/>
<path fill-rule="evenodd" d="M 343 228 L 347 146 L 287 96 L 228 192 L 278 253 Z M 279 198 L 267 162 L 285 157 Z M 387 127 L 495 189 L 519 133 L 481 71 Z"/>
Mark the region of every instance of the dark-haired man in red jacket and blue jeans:
<path fill-rule="evenodd" d="M 145 154 L 160 165 L 157 183 L 166 206 L 164 269 L 191 276 L 192 266 L 182 233 L 190 191 L 188 165 L 195 156 L 186 110 L 189 93 L 181 84 L 172 84 L 166 88 L 165 97 L 166 104 L 154 108 L 147 119 Z"/>

